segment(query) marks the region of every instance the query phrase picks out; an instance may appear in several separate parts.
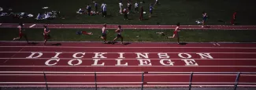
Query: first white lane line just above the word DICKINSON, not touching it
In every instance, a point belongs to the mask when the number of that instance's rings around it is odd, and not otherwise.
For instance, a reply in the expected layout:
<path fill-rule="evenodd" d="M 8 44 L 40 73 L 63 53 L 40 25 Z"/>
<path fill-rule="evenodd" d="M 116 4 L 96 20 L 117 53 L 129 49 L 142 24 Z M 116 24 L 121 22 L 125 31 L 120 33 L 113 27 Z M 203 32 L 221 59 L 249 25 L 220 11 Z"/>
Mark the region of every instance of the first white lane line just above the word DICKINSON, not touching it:
<path fill-rule="evenodd" d="M 0 48 L 65 48 L 65 49 L 256 49 L 256 47 L 82 47 L 82 46 L 0 46 Z"/>

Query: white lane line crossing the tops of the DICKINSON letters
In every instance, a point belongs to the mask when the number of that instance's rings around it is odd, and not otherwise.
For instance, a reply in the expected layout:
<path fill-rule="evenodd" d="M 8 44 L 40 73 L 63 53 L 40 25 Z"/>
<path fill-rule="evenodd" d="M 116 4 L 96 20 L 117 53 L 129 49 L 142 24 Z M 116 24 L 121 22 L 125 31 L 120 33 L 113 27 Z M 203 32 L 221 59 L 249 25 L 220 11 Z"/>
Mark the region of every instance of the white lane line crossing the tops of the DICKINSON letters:
<path fill-rule="evenodd" d="M 36 51 L 32 51 L 32 52 L 36 52 Z M 38 51 L 40 52 L 40 51 Z M 78 51 L 78 52 L 83 52 L 83 51 Z M 14 52 L 0 52 L 0 53 L 14 53 Z M 19 52 L 19 53 L 31 53 L 31 52 Z M 42 52 L 42 53 L 55 53 L 55 52 Z M 62 53 L 76 53 L 76 52 L 62 52 Z M 95 53 L 95 52 L 85 52 L 85 53 Z M 120 52 L 106 52 L 106 53 L 117 53 L 119 54 Z M 124 52 L 124 53 L 131 53 L 131 54 L 135 54 L 135 53 L 210 53 L 210 54 L 217 54 L 217 53 L 221 53 L 221 54 L 256 54 L 256 52 Z"/>

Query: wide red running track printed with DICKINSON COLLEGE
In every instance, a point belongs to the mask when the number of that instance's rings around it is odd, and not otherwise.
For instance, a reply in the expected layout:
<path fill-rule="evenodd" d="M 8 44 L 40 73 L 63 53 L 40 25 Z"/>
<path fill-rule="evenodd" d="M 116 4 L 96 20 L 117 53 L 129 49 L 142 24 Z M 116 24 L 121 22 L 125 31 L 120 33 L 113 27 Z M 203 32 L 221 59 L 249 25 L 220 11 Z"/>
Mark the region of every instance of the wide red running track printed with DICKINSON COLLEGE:
<path fill-rule="evenodd" d="M 52 87 L 94 86 L 94 72 L 105 73 L 97 74 L 99 86 L 140 86 L 141 72 L 146 72 L 144 85 L 149 87 L 187 86 L 191 71 L 256 72 L 256 44 L 253 43 L 59 43 L 59 46 L 50 45 L 54 42 L 43 46 L 42 43 L 0 42 L 0 86 L 45 87 L 43 71 Z M 235 80 L 236 73 L 194 74 L 193 85 L 233 86 Z M 239 86 L 255 87 L 255 82 L 256 74 L 241 74 Z"/>

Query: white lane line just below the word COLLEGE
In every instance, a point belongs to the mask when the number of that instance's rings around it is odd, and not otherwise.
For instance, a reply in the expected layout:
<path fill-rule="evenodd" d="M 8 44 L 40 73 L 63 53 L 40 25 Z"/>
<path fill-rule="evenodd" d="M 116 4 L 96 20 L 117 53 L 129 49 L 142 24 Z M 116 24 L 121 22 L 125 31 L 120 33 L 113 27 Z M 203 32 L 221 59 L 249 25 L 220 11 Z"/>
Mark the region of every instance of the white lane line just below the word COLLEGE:
<path fill-rule="evenodd" d="M 0 67 L 247 67 L 256 68 L 256 66 L 0 66 Z"/>

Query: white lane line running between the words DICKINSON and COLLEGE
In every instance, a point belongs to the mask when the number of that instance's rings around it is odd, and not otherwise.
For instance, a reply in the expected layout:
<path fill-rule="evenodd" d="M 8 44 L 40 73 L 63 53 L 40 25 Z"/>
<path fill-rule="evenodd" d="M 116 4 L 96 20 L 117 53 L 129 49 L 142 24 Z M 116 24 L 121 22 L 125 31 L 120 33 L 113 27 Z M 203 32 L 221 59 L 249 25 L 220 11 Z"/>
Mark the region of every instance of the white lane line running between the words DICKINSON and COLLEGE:
<path fill-rule="evenodd" d="M 0 59 L 23 59 L 23 60 L 26 60 L 26 59 L 101 59 L 101 58 L 0 58 Z M 106 58 L 104 58 L 106 59 Z M 108 59 L 117 59 L 117 58 L 108 58 Z M 135 59 L 135 58 L 124 58 L 124 59 Z M 151 59 L 151 58 L 148 58 L 148 59 Z M 152 58 L 154 59 L 154 58 Z M 168 59 L 172 59 L 172 58 L 168 58 Z M 180 58 L 181 59 L 181 58 Z M 189 59 L 192 59 L 192 58 L 189 58 Z M 196 60 L 200 60 L 200 59 L 196 59 Z M 205 60 L 205 59 L 202 59 L 202 60 Z M 217 59 L 215 59 L 217 60 Z M 221 59 L 221 60 L 230 60 L 230 58 L 228 59 Z M 231 60 L 242 60 L 242 59 L 231 59 Z M 243 60 L 256 60 L 256 59 L 243 59 Z"/>

